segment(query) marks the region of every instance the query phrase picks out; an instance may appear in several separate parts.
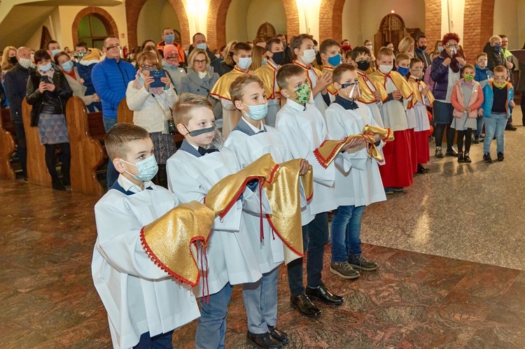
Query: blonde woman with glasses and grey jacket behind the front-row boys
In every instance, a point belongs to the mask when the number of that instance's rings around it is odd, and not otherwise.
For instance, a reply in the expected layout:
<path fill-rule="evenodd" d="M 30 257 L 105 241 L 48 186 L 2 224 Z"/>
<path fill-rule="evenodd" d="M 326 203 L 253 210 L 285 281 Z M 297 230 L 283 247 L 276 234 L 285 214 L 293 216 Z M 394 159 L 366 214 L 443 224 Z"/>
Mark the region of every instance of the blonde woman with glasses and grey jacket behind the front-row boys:
<path fill-rule="evenodd" d="M 206 97 L 214 106 L 215 119 L 223 117 L 223 107 L 221 102 L 209 95 L 211 87 L 219 79 L 218 73 L 209 66 L 210 59 L 206 51 L 196 48 L 188 57 L 188 73 L 181 79 L 181 89 L 179 93 L 193 93 Z"/>

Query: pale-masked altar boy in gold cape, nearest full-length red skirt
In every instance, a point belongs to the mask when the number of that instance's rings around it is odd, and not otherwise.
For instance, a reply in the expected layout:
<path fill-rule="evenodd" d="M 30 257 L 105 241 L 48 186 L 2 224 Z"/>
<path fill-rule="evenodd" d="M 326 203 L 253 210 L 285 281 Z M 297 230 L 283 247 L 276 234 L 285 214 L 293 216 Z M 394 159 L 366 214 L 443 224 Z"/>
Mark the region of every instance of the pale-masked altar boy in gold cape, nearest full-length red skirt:
<path fill-rule="evenodd" d="M 384 127 L 394 133 L 395 140 L 383 149 L 385 164 L 379 168 L 381 179 L 387 194 L 403 192 L 403 187 L 414 183 L 414 166 L 412 165 L 412 146 L 409 135 L 405 107 L 412 98 L 412 87 L 393 69 L 393 52 L 381 48 L 377 52 L 378 70 L 368 77 L 377 85 L 382 85 L 388 99 L 382 105 Z"/>

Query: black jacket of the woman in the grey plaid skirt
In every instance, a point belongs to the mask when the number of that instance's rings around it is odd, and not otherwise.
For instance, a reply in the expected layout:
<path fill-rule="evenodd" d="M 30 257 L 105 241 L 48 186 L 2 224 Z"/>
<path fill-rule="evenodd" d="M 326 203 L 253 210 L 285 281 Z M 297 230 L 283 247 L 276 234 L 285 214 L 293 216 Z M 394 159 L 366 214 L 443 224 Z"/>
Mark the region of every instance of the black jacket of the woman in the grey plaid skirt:
<path fill-rule="evenodd" d="M 26 99 L 33 108 L 31 109 L 31 126 L 38 126 L 38 117 L 41 113 L 66 114 L 67 100 L 73 96 L 73 91 L 67 83 L 66 77 L 59 69 L 55 69 L 52 83 L 55 91 L 38 91 L 41 75 L 36 70 L 31 70 L 27 80 Z"/>

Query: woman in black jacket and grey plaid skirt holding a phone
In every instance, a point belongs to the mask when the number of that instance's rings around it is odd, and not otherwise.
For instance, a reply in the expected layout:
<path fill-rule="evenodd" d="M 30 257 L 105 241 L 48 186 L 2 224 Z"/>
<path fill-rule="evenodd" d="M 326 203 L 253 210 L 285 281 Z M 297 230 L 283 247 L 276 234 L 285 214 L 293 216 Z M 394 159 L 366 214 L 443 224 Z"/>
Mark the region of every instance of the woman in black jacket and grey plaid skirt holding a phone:
<path fill-rule="evenodd" d="M 38 127 L 40 143 L 45 146 L 45 165 L 51 176 L 53 189 L 66 190 L 69 185 L 71 150 L 66 125 L 66 103 L 73 95 L 66 77 L 51 65 L 51 56 L 45 50 L 34 54 L 36 69 L 29 73 L 26 99 L 31 109 L 31 126 Z M 57 173 L 57 147 L 61 150 L 62 180 Z"/>

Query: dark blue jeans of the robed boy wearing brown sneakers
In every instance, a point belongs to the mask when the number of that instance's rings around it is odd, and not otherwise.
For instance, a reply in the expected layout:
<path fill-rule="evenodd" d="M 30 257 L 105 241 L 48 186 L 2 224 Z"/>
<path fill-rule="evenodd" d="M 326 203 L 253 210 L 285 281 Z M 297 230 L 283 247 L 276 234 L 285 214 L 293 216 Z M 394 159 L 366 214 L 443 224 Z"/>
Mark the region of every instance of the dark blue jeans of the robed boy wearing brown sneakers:
<path fill-rule="evenodd" d="M 366 206 L 339 206 L 332 217 L 332 262 L 342 263 L 361 254 L 361 220 Z"/>

